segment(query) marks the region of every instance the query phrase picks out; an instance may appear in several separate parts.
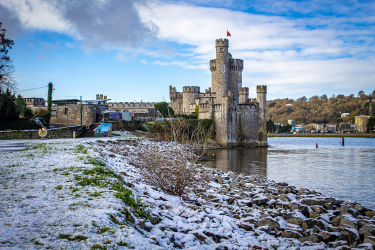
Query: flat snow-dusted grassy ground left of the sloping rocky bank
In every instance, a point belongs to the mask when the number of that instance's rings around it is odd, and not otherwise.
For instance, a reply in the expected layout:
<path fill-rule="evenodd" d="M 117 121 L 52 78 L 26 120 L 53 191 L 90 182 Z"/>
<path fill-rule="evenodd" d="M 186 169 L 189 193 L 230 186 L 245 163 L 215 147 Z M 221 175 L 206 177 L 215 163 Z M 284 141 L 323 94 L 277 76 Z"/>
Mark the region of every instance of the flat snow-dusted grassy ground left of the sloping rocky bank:
<path fill-rule="evenodd" d="M 158 249 L 126 223 L 114 223 L 125 205 L 108 188 L 77 185 L 95 139 L 27 140 L 23 151 L 0 156 L 0 248 Z M 5 144 L 15 141 L 2 141 Z M 87 153 L 77 151 L 84 145 Z"/>

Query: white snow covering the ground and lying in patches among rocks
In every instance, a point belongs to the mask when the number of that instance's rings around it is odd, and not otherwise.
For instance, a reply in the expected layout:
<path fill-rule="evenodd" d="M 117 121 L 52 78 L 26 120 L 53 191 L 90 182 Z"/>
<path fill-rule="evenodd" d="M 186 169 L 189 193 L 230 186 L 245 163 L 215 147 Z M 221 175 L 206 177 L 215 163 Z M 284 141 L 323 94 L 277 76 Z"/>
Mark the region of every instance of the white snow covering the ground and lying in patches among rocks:
<path fill-rule="evenodd" d="M 245 230 L 244 226 L 254 228 L 254 221 L 264 215 L 259 207 L 248 206 L 251 197 L 253 201 L 268 198 L 262 188 L 245 183 L 252 189 L 239 191 L 238 199 L 229 205 L 231 197 L 218 193 L 218 189 L 228 185 L 225 178 L 232 178 L 232 172 L 222 175 L 223 184 L 207 182 L 203 189 L 207 200 L 194 192 L 182 199 L 146 184 L 139 169 L 131 164 L 132 157 L 147 147 L 167 151 L 183 146 L 140 140 L 128 133 L 118 135 L 4 142 L 34 147 L 0 156 L 0 248 L 319 249 L 319 245 L 302 246 L 296 239 L 268 234 L 266 227 Z M 121 176 L 133 195 L 142 200 L 151 216 L 149 221 L 134 217 L 128 222 L 123 211 L 131 211 L 131 207 L 115 198 L 114 190 L 77 185 L 77 176 L 94 167 L 85 163 L 88 157 L 100 159 Z M 296 200 L 294 194 L 287 197 Z M 244 207 L 246 216 L 234 216 Z M 295 216 L 305 219 L 300 212 Z M 283 229 L 295 227 L 280 216 L 273 220 Z"/>

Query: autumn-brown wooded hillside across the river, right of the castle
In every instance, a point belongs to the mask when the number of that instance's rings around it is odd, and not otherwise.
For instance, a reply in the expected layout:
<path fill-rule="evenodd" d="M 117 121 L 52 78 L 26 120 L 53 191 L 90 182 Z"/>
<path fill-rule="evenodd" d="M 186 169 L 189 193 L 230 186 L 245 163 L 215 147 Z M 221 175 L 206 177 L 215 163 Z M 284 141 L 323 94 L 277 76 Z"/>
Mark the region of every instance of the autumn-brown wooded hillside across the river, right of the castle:
<path fill-rule="evenodd" d="M 342 113 L 349 113 L 347 118 L 341 118 Z M 375 114 L 375 90 L 366 95 L 363 91 L 349 96 L 327 95 L 300 97 L 293 99 L 277 99 L 267 101 L 267 120 L 275 123 L 286 124 L 288 120 L 295 120 L 296 123 L 331 123 L 351 122 L 357 115 Z"/>

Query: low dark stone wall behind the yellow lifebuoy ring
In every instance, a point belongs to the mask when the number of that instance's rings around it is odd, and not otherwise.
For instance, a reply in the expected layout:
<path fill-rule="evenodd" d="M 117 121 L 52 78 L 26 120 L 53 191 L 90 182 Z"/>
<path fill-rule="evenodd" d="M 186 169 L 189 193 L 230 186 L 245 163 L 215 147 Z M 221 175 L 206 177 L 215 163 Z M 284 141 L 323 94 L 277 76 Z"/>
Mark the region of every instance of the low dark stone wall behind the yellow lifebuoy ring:
<path fill-rule="evenodd" d="M 65 127 L 56 129 L 47 129 L 46 139 L 73 138 L 73 132 L 76 131 L 76 137 L 83 133 L 82 126 Z M 14 139 L 40 139 L 39 130 L 11 130 L 0 131 L 0 140 Z"/>

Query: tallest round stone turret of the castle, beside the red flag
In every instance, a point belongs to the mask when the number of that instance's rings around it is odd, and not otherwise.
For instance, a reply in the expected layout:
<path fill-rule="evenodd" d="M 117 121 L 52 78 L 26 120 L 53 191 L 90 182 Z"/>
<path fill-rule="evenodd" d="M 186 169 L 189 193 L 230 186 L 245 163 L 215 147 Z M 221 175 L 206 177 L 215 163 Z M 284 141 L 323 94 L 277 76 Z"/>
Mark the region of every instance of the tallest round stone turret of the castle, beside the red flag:
<path fill-rule="evenodd" d="M 229 90 L 229 41 L 216 39 L 216 59 L 210 61 L 212 91 L 217 97 L 228 95 Z"/>

